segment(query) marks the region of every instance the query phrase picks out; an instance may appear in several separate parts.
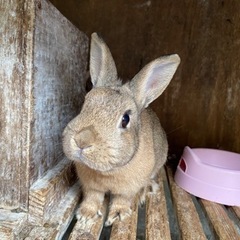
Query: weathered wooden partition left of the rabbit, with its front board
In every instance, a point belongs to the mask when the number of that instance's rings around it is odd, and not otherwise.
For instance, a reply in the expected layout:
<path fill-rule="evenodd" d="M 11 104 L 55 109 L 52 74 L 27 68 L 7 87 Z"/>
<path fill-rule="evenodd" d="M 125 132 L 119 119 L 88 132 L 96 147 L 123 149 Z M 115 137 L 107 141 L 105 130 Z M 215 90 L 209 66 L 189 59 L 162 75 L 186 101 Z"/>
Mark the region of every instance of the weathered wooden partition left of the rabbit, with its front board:
<path fill-rule="evenodd" d="M 0 0 L 0 22 L 0 208 L 27 210 L 29 187 L 63 159 L 88 38 L 47 0 Z"/>

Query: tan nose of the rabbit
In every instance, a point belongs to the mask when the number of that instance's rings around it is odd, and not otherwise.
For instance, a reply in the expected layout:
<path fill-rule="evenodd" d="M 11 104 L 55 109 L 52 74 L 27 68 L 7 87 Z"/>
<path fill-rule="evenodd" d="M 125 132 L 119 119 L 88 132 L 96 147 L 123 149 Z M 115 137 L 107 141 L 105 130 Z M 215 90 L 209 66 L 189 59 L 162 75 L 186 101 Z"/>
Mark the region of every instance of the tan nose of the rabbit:
<path fill-rule="evenodd" d="M 91 129 L 81 130 L 75 137 L 77 146 L 81 149 L 91 147 L 95 141 L 96 134 Z"/>

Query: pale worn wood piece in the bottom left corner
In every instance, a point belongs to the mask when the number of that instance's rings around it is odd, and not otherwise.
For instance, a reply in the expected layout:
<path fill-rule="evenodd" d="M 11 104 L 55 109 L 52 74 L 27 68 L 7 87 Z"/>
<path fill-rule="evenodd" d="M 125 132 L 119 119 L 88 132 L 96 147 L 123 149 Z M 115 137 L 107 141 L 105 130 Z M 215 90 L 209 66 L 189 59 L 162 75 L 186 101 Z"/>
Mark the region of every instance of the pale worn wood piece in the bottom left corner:
<path fill-rule="evenodd" d="M 13 213 L 0 209 L 1 240 L 15 239 L 27 223 L 26 213 Z"/>

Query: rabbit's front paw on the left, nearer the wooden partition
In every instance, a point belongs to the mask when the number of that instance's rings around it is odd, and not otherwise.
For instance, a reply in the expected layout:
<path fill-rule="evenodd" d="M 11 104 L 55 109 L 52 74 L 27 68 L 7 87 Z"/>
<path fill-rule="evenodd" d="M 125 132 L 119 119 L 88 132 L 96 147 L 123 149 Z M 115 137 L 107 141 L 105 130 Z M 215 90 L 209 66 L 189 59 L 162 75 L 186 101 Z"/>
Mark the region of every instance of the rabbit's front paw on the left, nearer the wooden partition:
<path fill-rule="evenodd" d="M 77 220 L 81 224 L 93 224 L 98 218 L 102 218 L 102 212 L 94 204 L 83 203 L 77 210 Z"/>

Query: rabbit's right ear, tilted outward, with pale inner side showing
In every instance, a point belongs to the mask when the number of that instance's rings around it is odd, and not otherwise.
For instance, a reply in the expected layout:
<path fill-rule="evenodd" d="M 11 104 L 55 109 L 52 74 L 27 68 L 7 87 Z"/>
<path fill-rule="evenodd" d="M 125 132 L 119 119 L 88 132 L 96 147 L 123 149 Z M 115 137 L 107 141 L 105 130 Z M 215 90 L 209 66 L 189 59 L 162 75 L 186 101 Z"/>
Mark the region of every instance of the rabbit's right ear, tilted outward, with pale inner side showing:
<path fill-rule="evenodd" d="M 180 58 L 177 54 L 158 58 L 147 64 L 129 82 L 131 91 L 140 108 L 146 108 L 159 97 L 170 83 Z"/>

